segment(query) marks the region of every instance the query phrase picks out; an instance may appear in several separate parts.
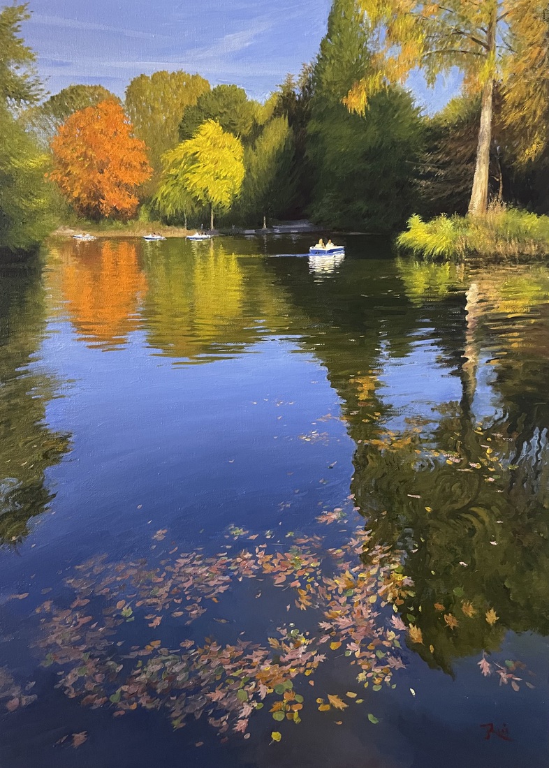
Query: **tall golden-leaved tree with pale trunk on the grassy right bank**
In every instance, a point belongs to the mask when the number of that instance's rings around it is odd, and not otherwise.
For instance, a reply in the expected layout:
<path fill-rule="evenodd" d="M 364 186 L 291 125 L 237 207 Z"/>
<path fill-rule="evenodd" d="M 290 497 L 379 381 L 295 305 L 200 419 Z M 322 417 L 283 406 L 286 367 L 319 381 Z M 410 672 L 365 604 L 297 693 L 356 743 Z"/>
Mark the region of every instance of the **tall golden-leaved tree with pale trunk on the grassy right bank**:
<path fill-rule="evenodd" d="M 537 2 L 525 0 L 359 0 L 374 56 L 372 68 L 349 91 L 349 109 L 363 112 L 372 94 L 392 82 L 404 82 L 418 66 L 428 84 L 434 84 L 438 74 L 457 67 L 464 75 L 467 91 L 480 94 L 475 174 L 468 206 L 471 216 L 483 214 L 488 204 L 494 83 L 501 77 L 516 81 L 513 58 L 505 54 L 513 43 L 520 43 L 523 50 L 528 48 L 533 34 L 521 23 L 518 5 L 524 6 L 523 10 L 528 5 L 539 8 Z M 531 11 L 528 16 L 535 22 L 536 15 Z M 540 14 L 537 25 L 541 23 Z M 539 80 L 540 74 L 537 71 L 534 80 Z M 526 95 L 524 89 L 521 93 Z M 524 111 L 528 112 L 524 101 L 521 111 L 524 119 Z"/>

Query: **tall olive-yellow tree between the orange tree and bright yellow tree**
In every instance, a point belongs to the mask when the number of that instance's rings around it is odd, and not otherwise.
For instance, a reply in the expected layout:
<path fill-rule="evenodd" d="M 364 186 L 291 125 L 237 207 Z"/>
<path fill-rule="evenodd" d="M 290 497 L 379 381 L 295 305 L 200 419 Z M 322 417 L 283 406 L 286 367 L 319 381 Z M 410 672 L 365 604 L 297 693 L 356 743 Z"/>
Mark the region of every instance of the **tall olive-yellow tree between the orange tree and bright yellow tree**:
<path fill-rule="evenodd" d="M 210 84 L 200 74 L 160 71 L 140 74 L 126 89 L 126 112 L 137 138 L 147 144 L 149 162 L 160 170 L 161 157 L 180 141 L 179 124 Z"/>

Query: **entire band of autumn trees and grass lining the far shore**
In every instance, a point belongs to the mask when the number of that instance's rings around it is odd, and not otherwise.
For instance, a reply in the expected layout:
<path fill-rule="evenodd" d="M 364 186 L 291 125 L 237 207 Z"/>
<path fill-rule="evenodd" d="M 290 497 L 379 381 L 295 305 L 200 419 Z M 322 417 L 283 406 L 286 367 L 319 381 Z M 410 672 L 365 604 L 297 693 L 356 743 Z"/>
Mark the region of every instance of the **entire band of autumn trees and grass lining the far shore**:
<path fill-rule="evenodd" d="M 549 252 L 541 2 L 333 0 L 314 61 L 263 104 L 183 71 L 141 74 L 124 99 L 74 84 L 44 100 L 20 37 L 28 12 L 0 14 L 5 252 L 32 250 L 55 223 L 187 230 L 214 217 L 375 233 L 408 220 L 399 246 L 429 258 Z M 418 69 L 428 84 L 457 69 L 461 94 L 424 114 L 406 90 Z"/>

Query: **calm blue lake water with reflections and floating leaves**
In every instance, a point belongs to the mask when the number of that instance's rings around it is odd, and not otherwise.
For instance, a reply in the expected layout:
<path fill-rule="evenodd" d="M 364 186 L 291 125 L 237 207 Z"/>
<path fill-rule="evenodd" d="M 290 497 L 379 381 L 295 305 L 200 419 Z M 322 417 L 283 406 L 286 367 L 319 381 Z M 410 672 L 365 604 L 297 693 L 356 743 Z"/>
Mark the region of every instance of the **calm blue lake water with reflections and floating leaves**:
<path fill-rule="evenodd" d="M 2 271 L 5 768 L 549 766 L 549 270 L 308 245 Z"/>

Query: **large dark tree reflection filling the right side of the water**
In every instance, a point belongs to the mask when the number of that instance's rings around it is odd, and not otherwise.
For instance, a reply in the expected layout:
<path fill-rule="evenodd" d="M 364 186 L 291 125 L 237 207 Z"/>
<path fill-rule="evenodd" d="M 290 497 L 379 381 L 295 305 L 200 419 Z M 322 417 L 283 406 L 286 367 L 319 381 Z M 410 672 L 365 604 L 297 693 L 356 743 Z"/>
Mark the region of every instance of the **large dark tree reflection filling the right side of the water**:
<path fill-rule="evenodd" d="M 415 594 L 399 610 L 423 640 L 411 647 L 451 671 L 508 629 L 549 633 L 549 273 L 396 269 L 369 263 L 366 282 L 348 262 L 289 290 L 344 402 L 356 504 L 373 541 L 405 551 Z M 424 369 L 428 347 L 436 365 Z"/>

